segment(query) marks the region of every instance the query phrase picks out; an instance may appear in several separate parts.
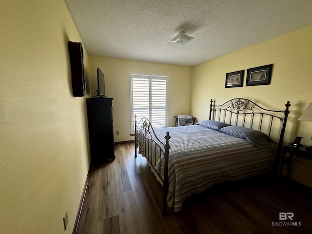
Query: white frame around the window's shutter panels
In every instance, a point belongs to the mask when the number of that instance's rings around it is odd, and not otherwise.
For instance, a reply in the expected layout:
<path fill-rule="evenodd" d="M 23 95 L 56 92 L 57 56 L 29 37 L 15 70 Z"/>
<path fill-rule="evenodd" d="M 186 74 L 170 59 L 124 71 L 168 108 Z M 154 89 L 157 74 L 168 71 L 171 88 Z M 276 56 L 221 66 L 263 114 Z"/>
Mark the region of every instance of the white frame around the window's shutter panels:
<path fill-rule="evenodd" d="M 149 79 L 149 97 L 151 99 L 151 83 L 152 83 L 152 78 L 156 78 L 158 77 L 158 79 L 162 79 L 162 80 L 165 80 L 166 81 L 166 106 L 165 106 L 165 127 L 168 127 L 168 84 L 169 84 L 169 76 L 168 75 L 157 75 L 157 74 L 146 74 L 146 73 L 134 73 L 134 72 L 131 72 L 129 73 L 129 80 L 130 80 L 130 122 L 131 122 L 131 135 L 135 134 L 135 117 L 134 117 L 134 106 L 133 106 L 133 78 L 132 76 L 142 76 Z M 149 107 L 150 107 L 150 110 L 151 109 L 151 100 L 150 100 L 150 104 L 149 104 Z M 151 116 L 152 116 L 152 112 L 150 112 L 149 116 L 147 117 L 152 125 L 153 125 L 153 122 L 151 120 Z M 139 121 L 140 119 L 137 119 L 137 121 Z M 154 126 L 153 126 L 154 127 Z"/>

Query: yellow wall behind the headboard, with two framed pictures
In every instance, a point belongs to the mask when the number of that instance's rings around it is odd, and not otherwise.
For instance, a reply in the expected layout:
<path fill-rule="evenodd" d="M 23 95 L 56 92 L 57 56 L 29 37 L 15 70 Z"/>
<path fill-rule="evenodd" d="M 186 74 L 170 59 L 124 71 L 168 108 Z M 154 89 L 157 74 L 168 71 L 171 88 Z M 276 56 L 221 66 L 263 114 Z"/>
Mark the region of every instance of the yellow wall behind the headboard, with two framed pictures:
<path fill-rule="evenodd" d="M 312 102 L 312 25 L 263 41 L 193 67 L 191 114 L 198 120 L 209 117 L 209 100 L 223 103 L 231 98 L 249 98 L 272 109 L 284 109 L 290 101 L 285 143 L 295 136 L 311 145 L 312 122 L 297 118 Z M 272 64 L 271 85 L 245 86 L 248 68 Z M 224 88 L 226 73 L 245 70 L 244 86 Z M 307 164 L 312 166 L 311 160 Z M 294 163 L 292 178 L 312 187 L 312 170 Z M 304 173 L 303 173 L 304 172 Z"/>

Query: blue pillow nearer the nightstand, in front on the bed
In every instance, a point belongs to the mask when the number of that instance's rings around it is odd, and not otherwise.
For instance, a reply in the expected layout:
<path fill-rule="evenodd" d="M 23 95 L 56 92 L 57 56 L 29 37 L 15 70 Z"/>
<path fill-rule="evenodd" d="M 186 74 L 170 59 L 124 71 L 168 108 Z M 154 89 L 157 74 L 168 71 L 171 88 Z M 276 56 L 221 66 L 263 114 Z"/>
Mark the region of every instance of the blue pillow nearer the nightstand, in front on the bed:
<path fill-rule="evenodd" d="M 266 134 L 257 130 L 245 128 L 242 126 L 228 126 L 220 129 L 220 132 L 226 133 L 233 137 L 243 138 L 248 140 L 254 146 L 271 145 L 273 140 Z"/>

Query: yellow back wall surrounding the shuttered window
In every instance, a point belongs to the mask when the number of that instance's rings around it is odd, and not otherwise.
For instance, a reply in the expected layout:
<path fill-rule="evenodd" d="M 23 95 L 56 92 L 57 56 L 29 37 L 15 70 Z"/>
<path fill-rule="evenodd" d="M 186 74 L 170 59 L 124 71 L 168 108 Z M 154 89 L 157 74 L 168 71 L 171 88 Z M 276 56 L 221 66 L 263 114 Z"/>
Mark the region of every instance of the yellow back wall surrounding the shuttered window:
<path fill-rule="evenodd" d="M 105 75 L 105 95 L 113 99 L 114 140 L 128 141 L 130 137 L 130 79 L 129 73 L 169 76 L 168 126 L 175 126 L 175 115 L 189 115 L 191 103 L 192 68 L 155 62 L 89 56 L 91 94 L 97 90 L 97 68 Z M 119 131 L 119 135 L 116 135 Z"/>

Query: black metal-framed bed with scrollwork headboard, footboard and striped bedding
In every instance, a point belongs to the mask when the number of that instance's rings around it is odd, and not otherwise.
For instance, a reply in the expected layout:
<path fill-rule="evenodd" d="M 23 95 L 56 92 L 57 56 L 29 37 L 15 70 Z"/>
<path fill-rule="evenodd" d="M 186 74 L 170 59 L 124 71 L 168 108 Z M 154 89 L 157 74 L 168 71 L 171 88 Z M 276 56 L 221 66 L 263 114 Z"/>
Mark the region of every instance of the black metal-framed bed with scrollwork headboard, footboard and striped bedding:
<path fill-rule="evenodd" d="M 145 156 L 162 184 L 162 214 L 182 208 L 190 195 L 225 181 L 278 168 L 290 102 L 284 110 L 265 109 L 234 98 L 221 105 L 211 99 L 209 119 L 195 125 L 153 129 L 135 116 L 135 157 Z"/>

